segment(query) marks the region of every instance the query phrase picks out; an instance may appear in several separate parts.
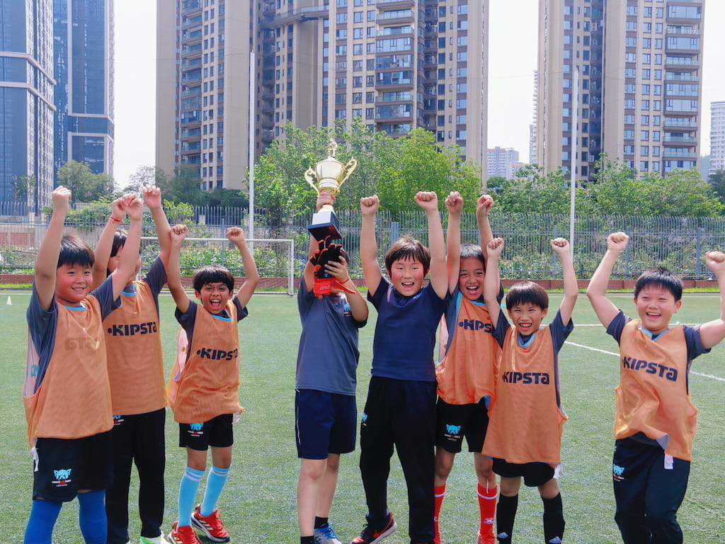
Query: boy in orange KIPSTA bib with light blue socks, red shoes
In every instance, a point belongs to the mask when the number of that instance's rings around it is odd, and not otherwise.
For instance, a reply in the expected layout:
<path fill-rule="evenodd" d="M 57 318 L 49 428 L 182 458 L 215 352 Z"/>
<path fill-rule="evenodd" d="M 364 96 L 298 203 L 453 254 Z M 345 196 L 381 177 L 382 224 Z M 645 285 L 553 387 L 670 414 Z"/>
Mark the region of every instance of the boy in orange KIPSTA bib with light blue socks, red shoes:
<path fill-rule="evenodd" d="M 216 503 L 231 466 L 234 442 L 232 419 L 239 405 L 239 332 L 237 322 L 247 317 L 247 302 L 260 276 L 252 252 L 239 227 L 227 230 L 227 238 L 241 254 L 246 279 L 234 293 L 234 278 L 221 265 L 205 265 L 194 273 L 191 302 L 181 286 L 179 253 L 188 229 L 171 229 L 171 253 L 167 281 L 176 319 L 181 323 L 179 353 L 169 382 L 169 405 L 179 424 L 179 446 L 186 448 L 186 471 L 178 495 L 178 522 L 171 540 L 175 544 L 199 544 L 193 524 L 212 540 L 228 542 Z M 207 468 L 207 450 L 212 448 L 212 469 L 207 477 L 204 501 L 194 508 L 196 490 Z"/>

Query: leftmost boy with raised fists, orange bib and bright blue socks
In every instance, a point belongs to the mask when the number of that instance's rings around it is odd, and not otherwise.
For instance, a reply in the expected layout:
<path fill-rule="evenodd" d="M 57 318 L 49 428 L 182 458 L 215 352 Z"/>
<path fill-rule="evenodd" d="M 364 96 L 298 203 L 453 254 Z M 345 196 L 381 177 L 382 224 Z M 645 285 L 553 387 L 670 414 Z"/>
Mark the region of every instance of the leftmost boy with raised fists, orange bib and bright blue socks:
<path fill-rule="evenodd" d="M 25 544 L 50 544 L 62 503 L 75 496 L 83 539 L 104 544 L 113 418 L 101 321 L 117 308 L 115 300 L 136 265 L 143 205 L 136 195 L 123 197 L 118 213 L 130 216 L 128 255 L 91 291 L 93 251 L 62 234 L 70 190 L 59 186 L 52 199 L 28 307 L 23 401 L 35 471 Z"/>

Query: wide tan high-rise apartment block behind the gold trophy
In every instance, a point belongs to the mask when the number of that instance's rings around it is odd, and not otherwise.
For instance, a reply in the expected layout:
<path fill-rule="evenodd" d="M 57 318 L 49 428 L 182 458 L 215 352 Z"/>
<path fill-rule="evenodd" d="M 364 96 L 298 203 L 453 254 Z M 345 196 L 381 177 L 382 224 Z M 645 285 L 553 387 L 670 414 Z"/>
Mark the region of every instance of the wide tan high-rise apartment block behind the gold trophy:
<path fill-rule="evenodd" d="M 244 11 L 238 17 L 223 0 L 159 0 L 161 168 L 191 165 L 207 189 L 237 186 L 244 178 L 249 91 L 241 84 L 249 85 L 251 49 L 256 154 L 281 136 L 288 121 L 306 128 L 360 119 L 392 135 L 416 127 L 433 131 L 485 173 L 488 0 L 234 4 L 244 4 L 234 7 Z M 230 49 L 231 38 L 237 49 Z M 231 78 L 239 80 L 234 90 Z M 239 133 L 238 144 L 228 144 L 231 131 Z M 220 164 L 219 157 L 229 154 L 239 170 Z"/>

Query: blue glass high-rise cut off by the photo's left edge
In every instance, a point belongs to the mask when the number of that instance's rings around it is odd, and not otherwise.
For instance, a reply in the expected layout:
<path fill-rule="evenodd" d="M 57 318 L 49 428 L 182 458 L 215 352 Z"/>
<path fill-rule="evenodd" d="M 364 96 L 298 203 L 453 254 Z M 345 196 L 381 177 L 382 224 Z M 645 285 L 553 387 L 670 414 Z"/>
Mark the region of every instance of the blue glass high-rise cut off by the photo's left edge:
<path fill-rule="evenodd" d="M 53 2 L 0 0 L 0 202 L 19 199 L 30 176 L 31 207 L 53 190 Z"/>

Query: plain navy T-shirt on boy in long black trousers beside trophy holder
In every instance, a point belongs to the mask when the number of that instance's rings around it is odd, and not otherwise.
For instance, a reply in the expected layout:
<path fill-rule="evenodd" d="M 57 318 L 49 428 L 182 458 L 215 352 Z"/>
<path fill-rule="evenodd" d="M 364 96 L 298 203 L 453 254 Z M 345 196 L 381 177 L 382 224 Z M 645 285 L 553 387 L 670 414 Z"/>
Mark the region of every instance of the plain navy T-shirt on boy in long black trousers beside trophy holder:
<path fill-rule="evenodd" d="M 435 382 L 436 329 L 446 308 L 431 284 L 412 297 L 399 294 L 386 278 L 368 300 L 378 310 L 370 374 L 383 378 Z"/>

